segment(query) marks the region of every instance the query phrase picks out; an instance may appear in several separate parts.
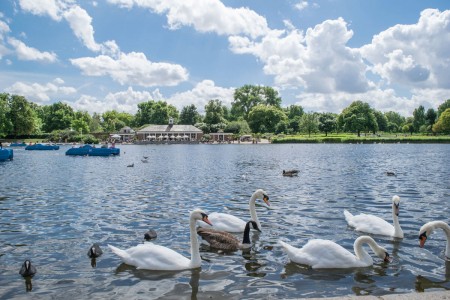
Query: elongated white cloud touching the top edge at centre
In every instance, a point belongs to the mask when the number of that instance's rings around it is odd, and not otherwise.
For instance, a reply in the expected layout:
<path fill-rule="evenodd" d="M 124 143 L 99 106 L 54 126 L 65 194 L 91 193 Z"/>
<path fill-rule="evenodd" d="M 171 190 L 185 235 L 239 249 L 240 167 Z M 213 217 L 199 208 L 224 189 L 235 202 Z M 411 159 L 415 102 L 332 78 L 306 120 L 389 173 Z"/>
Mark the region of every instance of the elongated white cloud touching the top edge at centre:
<path fill-rule="evenodd" d="M 171 29 L 192 26 L 199 32 L 220 35 L 248 35 L 252 38 L 269 31 L 267 21 L 255 11 L 225 6 L 219 0 L 108 0 L 125 8 L 133 6 L 166 14 Z"/>

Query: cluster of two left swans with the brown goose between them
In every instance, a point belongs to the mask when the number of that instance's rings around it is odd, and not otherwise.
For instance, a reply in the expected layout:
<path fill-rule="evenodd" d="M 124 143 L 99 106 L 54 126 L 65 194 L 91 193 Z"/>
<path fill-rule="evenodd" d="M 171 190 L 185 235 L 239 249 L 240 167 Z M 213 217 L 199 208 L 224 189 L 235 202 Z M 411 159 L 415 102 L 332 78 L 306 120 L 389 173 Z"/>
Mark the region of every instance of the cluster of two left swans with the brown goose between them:
<path fill-rule="evenodd" d="M 201 209 L 195 209 L 190 213 L 189 229 L 191 244 L 191 259 L 178 252 L 153 243 L 144 243 L 126 250 L 108 245 L 108 247 L 128 265 L 138 269 L 179 271 L 198 268 L 201 265 L 199 243 L 196 235 L 196 224 L 200 226 L 198 234 L 207 240 L 212 247 L 224 250 L 237 250 L 251 247 L 250 226 L 260 231 L 261 225 L 256 214 L 256 199 L 270 205 L 269 196 L 261 189 L 256 190 L 250 198 L 251 221 L 245 222 L 233 215 L 224 213 L 212 213 L 209 216 Z M 206 227 L 214 226 L 214 230 Z M 227 232 L 244 232 L 243 242 L 240 243 L 233 235 Z"/>

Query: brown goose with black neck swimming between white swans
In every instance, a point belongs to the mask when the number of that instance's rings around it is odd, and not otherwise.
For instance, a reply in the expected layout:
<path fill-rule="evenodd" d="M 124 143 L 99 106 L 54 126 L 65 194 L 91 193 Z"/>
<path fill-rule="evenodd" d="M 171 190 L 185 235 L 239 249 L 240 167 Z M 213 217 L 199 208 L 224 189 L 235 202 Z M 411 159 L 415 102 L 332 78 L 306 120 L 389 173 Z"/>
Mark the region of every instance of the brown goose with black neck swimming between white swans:
<path fill-rule="evenodd" d="M 250 226 L 261 232 L 255 221 L 248 221 L 245 225 L 242 243 L 231 233 L 226 231 L 215 230 L 212 228 L 197 228 L 197 234 L 207 241 L 211 248 L 236 251 L 251 248 L 250 242 Z"/>

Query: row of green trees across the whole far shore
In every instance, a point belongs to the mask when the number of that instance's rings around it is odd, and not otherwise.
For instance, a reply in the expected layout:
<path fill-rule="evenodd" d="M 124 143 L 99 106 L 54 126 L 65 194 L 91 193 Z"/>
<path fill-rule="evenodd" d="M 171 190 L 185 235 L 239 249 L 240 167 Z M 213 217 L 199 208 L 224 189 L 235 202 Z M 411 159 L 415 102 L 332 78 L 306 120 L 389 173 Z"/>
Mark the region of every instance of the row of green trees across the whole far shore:
<path fill-rule="evenodd" d="M 166 101 L 142 102 L 135 115 L 107 111 L 90 115 L 66 103 L 37 105 L 20 95 L 0 94 L 0 137 L 48 136 L 52 140 L 86 140 L 89 133 L 118 132 L 124 126 L 139 129 L 148 124 L 194 125 L 205 134 L 297 134 L 331 132 L 450 133 L 450 99 L 437 110 L 419 106 L 410 117 L 377 111 L 363 101 L 354 101 L 340 114 L 305 112 L 299 105 L 281 107 L 281 98 L 271 87 L 245 85 L 234 92 L 231 107 L 210 100 L 200 114 L 195 105 L 178 111 Z"/>

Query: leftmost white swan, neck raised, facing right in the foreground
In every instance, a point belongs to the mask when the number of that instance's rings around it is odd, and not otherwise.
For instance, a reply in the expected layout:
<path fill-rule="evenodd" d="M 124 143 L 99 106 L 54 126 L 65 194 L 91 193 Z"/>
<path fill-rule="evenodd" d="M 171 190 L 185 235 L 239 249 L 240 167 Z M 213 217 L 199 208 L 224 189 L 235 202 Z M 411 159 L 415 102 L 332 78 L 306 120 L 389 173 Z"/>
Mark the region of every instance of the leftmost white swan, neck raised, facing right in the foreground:
<path fill-rule="evenodd" d="M 108 245 L 108 247 L 117 254 L 124 263 L 135 266 L 138 269 L 178 271 L 199 268 L 201 266 L 201 258 L 197 235 L 195 234 L 195 222 L 197 220 L 202 220 L 203 222 L 211 224 L 208 220 L 208 216 L 203 210 L 195 209 L 191 212 L 189 218 L 191 259 L 184 257 L 172 249 L 153 243 L 137 245 L 127 250 L 121 250 L 111 245 Z"/>

